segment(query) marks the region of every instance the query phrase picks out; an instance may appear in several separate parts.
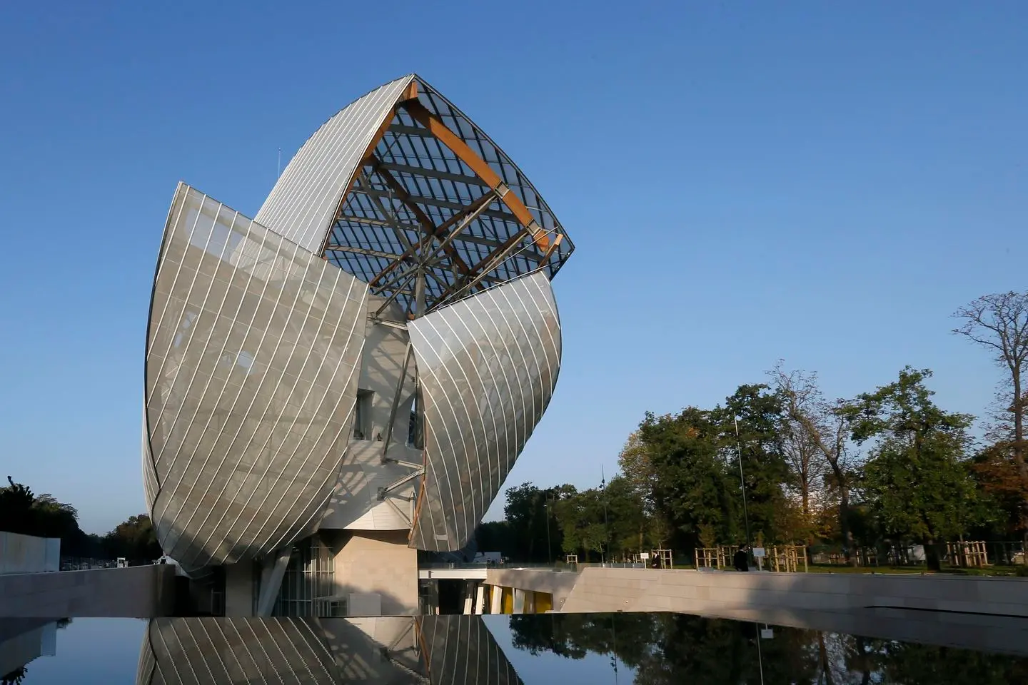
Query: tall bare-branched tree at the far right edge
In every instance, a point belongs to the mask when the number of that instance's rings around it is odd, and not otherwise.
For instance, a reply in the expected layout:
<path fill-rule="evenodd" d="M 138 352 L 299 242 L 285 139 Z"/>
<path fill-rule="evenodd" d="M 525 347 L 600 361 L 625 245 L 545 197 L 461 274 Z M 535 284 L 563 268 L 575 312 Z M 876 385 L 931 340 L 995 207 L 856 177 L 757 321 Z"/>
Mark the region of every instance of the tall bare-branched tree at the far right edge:
<path fill-rule="evenodd" d="M 1028 443 L 1025 442 L 1025 413 L 1028 411 L 1028 291 L 985 295 L 958 309 L 963 319 L 953 332 L 985 347 L 996 365 L 1006 373 L 1000 391 L 1002 419 L 998 426 L 1005 440 L 1001 451 L 1008 451 L 1016 466 L 1016 478 L 1001 478 L 1004 490 L 1013 484 L 1021 491 L 1021 529 L 1028 544 Z M 995 463 L 995 462 L 993 462 Z M 1002 471 L 999 464 L 998 469 Z"/>

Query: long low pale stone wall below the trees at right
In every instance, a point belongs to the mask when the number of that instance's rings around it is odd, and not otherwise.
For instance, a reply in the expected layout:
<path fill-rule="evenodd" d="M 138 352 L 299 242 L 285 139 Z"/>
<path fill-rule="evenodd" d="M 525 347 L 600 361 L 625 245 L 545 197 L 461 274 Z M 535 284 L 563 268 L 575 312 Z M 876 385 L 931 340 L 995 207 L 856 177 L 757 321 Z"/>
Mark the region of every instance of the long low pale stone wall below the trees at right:
<path fill-rule="evenodd" d="M 553 593 L 554 609 L 564 612 L 887 608 L 1028 617 L 1028 580 L 1021 578 L 587 568 L 489 571 L 486 582 Z"/>

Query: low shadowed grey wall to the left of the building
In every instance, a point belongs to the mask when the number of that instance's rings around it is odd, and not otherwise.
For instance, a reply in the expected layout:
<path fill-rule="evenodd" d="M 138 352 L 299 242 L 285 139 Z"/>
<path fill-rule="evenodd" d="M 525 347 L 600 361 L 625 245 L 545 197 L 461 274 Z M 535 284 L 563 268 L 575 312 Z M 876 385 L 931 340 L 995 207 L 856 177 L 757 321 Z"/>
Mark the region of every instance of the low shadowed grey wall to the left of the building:
<path fill-rule="evenodd" d="M 0 617 L 64 618 L 170 614 L 175 566 L 19 573 L 0 576 Z"/>

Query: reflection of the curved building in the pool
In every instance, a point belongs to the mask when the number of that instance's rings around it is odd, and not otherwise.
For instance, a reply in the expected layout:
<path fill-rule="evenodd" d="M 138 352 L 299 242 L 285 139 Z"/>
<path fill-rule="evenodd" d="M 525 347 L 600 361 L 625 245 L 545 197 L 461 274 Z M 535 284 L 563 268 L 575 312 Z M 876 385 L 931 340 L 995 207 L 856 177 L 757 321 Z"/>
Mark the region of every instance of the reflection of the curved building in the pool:
<path fill-rule="evenodd" d="M 480 616 L 155 618 L 138 685 L 521 685 Z"/>

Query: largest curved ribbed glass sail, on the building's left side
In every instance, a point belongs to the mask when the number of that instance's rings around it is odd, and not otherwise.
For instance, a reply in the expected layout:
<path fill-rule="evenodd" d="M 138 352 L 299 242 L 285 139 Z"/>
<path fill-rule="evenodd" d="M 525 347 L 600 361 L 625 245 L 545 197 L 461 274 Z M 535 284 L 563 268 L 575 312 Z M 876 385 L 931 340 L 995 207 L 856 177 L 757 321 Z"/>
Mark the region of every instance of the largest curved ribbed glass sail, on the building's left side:
<path fill-rule="evenodd" d="M 143 472 L 157 539 L 184 568 L 317 527 L 350 436 L 366 297 L 180 184 L 150 306 Z"/>

